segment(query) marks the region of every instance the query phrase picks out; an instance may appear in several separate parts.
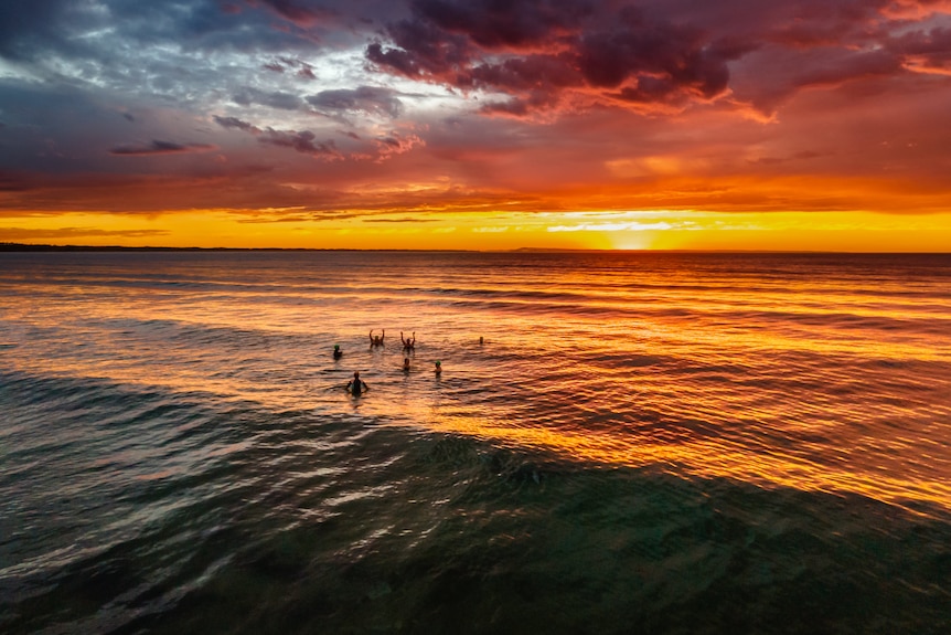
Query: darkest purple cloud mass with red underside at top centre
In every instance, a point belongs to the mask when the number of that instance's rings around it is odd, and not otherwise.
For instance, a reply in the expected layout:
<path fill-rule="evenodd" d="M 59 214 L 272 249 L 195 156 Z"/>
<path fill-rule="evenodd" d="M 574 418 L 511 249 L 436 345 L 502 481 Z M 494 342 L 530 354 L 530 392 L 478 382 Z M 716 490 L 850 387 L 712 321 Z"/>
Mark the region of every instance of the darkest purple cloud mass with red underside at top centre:
<path fill-rule="evenodd" d="M 755 47 L 631 8 L 608 23 L 590 2 L 420 0 L 413 8 L 412 19 L 387 28 L 394 45 L 370 44 L 367 60 L 412 78 L 506 93 L 487 110 L 514 115 L 555 106 L 564 92 L 710 99 L 727 89 L 727 63 Z"/>

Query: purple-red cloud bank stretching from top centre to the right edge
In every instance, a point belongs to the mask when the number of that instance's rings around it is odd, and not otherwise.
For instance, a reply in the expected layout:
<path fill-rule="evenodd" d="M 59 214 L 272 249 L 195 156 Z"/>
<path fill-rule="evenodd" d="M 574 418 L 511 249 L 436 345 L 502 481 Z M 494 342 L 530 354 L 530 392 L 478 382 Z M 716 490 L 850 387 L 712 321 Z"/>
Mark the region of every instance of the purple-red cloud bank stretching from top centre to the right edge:
<path fill-rule="evenodd" d="M 803 88 L 898 76 L 910 66 L 944 72 L 951 62 L 951 31 L 908 31 L 889 17 L 897 7 L 890 0 L 416 0 L 410 7 L 409 18 L 386 27 L 385 40 L 367 45 L 367 61 L 412 80 L 504 95 L 482 110 L 519 117 L 578 97 L 683 107 L 730 93 L 771 113 Z M 735 72 L 746 66 L 754 70 L 741 72 L 737 85 Z"/>

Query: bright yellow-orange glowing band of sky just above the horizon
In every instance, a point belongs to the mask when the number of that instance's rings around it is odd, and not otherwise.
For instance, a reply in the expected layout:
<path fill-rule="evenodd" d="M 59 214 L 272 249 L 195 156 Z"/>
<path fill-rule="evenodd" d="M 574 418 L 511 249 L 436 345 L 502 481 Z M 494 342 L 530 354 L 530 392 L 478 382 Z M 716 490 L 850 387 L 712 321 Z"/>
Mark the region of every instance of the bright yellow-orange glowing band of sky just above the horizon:
<path fill-rule="evenodd" d="M 947 252 L 951 213 L 566 211 L 331 215 L 299 209 L 73 212 L 6 218 L 0 242 L 88 246 L 368 250 Z"/>

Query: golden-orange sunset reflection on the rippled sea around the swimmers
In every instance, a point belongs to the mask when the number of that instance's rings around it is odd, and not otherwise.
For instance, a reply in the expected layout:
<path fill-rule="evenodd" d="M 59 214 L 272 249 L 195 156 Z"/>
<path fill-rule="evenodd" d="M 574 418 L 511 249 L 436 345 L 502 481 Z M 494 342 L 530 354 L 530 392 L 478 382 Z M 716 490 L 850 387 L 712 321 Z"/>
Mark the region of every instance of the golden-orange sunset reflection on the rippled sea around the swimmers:
<path fill-rule="evenodd" d="M 601 222 L 590 214 L 549 219 Z M 307 257 L 299 284 L 237 279 L 227 267 L 205 267 L 197 278 L 212 284 L 195 296 L 161 285 L 161 275 L 137 284 L 122 279 L 115 288 L 96 286 L 94 276 L 89 287 L 70 283 L 68 306 L 52 296 L 12 304 L 7 317 L 23 329 L 58 325 L 75 340 L 51 341 L 55 354 L 18 354 L 17 368 L 217 395 L 273 411 L 312 409 L 314 420 L 359 412 L 383 425 L 535 448 L 602 468 L 951 509 L 951 474 L 941 458 L 951 440 L 937 423 L 926 425 L 951 416 L 951 404 L 917 399 L 932 387 L 922 383 L 920 370 L 902 370 L 905 360 L 947 364 L 951 353 L 936 346 L 931 331 L 875 326 L 943 315 L 937 300 L 919 306 L 909 299 L 904 278 L 760 272 L 747 279 L 713 269 L 698 276 L 687 266 L 653 271 L 644 264 L 652 261 L 618 265 L 598 255 L 577 265 L 569 258 L 543 281 L 531 267 L 473 277 L 468 269 L 428 266 L 412 274 L 377 267 L 374 276 L 351 279 L 329 265 L 310 274 L 307 263 L 318 261 Z M 342 278 L 328 283 L 324 275 Z M 333 290 L 338 285 L 345 293 Z M 453 290 L 426 290 L 437 288 Z M 361 308 L 339 311 L 341 293 L 359 297 L 353 306 Z M 492 308 L 472 296 L 492 298 Z M 468 301 L 477 301 L 478 310 Z M 397 308 L 384 318 L 381 306 Z M 381 321 L 396 345 L 368 350 L 364 331 Z M 125 330 L 127 324 L 136 330 Z M 298 343 L 324 328 L 344 346 L 341 363 L 330 361 L 329 349 Z M 424 342 L 409 374 L 399 370 L 400 328 L 417 330 Z M 193 329 L 207 339 L 189 343 Z M 235 349 L 233 334 L 254 334 L 252 341 L 280 336 L 281 343 Z M 478 335 L 489 343 L 473 350 Z M 99 352 L 89 356 L 84 347 Z M 484 354 L 496 352 L 502 357 L 489 363 Z M 544 354 L 530 361 L 536 352 Z M 772 359 L 777 354 L 800 366 L 784 371 Z M 445 368 L 438 379 L 431 372 L 437 358 Z M 840 369 L 855 362 L 865 364 L 861 372 Z M 372 387 L 359 400 L 343 392 L 353 370 Z M 285 381 L 285 374 L 297 379 Z M 896 382 L 900 388 L 893 388 Z M 838 385 L 846 396 L 827 394 L 825 385 Z M 917 432 L 900 434 L 902 422 L 916 422 Z M 870 437 L 864 432 L 870 425 L 896 432 Z"/>

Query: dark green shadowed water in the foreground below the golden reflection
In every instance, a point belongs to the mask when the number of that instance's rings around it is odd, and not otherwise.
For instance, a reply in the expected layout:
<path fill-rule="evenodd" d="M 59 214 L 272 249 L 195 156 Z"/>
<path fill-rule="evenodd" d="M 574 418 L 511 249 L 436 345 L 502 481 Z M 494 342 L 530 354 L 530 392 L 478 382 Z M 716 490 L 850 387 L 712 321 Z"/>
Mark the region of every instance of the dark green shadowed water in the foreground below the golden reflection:
<path fill-rule="evenodd" d="M 259 500 L 276 510 L 266 518 L 235 502 L 234 518 L 218 515 L 204 529 L 181 526 L 211 509 L 183 510 L 8 605 L 0 626 L 72 633 L 94 624 L 121 634 L 951 627 L 944 511 L 912 516 L 857 496 L 579 466 L 395 427 L 373 428 L 360 444 L 372 461 L 350 469 L 345 484 L 273 493 Z M 172 567 L 153 551 L 177 532 L 196 547 Z M 163 567 L 174 573 L 146 580 L 143 572 Z"/>

